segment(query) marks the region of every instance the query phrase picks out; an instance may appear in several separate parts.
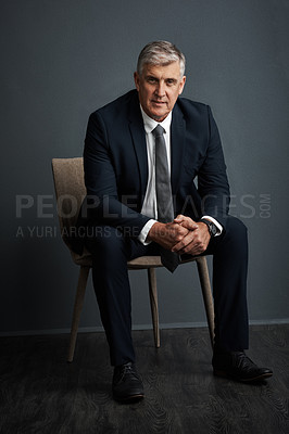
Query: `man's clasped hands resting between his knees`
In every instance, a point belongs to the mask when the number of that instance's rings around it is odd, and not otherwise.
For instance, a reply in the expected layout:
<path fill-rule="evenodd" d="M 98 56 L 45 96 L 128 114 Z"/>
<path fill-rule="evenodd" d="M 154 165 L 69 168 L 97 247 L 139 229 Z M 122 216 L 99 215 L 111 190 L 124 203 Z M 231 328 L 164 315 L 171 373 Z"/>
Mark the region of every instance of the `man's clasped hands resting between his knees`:
<path fill-rule="evenodd" d="M 154 241 L 171 252 L 192 256 L 202 254 L 210 239 L 205 224 L 196 222 L 181 214 L 169 224 L 155 222 L 148 234 L 149 241 Z"/>

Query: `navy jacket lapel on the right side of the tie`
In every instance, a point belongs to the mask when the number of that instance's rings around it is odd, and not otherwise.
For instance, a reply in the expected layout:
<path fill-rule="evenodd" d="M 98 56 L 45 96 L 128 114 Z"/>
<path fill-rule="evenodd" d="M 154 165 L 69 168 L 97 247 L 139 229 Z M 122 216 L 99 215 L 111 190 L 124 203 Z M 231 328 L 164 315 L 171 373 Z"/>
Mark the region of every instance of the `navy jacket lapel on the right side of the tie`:
<path fill-rule="evenodd" d="M 186 122 L 177 103 L 173 110 L 171 126 L 171 182 L 173 195 L 177 193 L 183 170 L 185 150 Z"/>

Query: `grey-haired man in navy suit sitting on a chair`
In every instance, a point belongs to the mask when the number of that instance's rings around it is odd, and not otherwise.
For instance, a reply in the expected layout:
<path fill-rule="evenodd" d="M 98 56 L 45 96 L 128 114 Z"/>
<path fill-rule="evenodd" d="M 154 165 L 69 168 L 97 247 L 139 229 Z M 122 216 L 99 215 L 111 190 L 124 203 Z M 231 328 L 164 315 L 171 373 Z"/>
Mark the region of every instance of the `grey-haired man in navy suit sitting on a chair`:
<path fill-rule="evenodd" d="M 174 44 L 147 44 L 136 90 L 92 113 L 87 128 L 81 214 L 114 366 L 113 396 L 121 401 L 143 397 L 127 271 L 127 260 L 141 255 L 161 255 L 174 271 L 183 255 L 213 254 L 214 374 L 243 382 L 272 375 L 243 352 L 247 229 L 228 215 L 226 166 L 210 107 L 179 98 L 184 73 L 185 56 Z"/>

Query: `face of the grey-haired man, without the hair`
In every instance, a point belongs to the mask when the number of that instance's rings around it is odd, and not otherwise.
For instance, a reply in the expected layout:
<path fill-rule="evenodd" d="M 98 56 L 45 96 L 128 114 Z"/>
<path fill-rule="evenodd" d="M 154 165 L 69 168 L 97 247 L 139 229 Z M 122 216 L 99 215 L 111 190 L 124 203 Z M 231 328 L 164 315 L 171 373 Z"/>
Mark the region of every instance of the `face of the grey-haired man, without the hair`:
<path fill-rule="evenodd" d="M 134 77 L 143 111 L 156 122 L 164 120 L 185 86 L 179 62 L 166 66 L 144 64 L 142 74 L 135 73 Z"/>

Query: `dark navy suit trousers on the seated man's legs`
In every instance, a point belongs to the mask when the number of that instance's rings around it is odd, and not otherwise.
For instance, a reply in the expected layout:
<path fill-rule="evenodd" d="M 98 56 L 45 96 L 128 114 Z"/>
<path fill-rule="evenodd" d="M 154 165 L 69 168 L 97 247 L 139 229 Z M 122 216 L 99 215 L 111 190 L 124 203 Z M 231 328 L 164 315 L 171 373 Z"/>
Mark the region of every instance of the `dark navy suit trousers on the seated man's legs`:
<path fill-rule="evenodd" d="M 159 247 L 155 243 L 144 246 L 110 226 L 88 229 L 86 247 L 92 254 L 93 286 L 111 363 L 135 362 L 127 260 L 158 255 Z M 211 239 L 204 255 L 213 255 L 215 349 L 246 349 L 249 345 L 246 226 L 238 218 L 228 216 L 226 231 Z"/>

